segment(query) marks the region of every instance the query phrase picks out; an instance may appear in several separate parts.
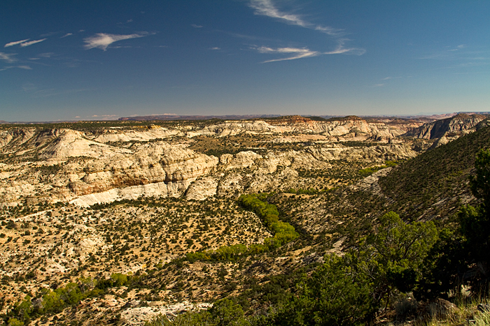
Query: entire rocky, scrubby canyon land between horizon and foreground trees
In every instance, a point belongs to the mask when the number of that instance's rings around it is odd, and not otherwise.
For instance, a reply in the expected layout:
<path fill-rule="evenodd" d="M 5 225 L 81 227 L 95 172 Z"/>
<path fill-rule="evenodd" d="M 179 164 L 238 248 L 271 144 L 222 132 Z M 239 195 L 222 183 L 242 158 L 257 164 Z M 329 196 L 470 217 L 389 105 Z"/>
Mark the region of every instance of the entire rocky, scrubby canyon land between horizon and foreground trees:
<path fill-rule="evenodd" d="M 475 201 L 466 181 L 490 129 L 421 153 L 433 140 L 400 136 L 419 122 L 2 126 L 1 318 L 26 295 L 38 325 L 144 325 L 220 297 L 262 311 L 384 212 L 444 220 Z M 269 251 L 275 231 L 237 201 L 264 192 L 299 235 Z M 209 259 L 186 260 L 195 251 Z M 73 284 L 83 295 L 46 308 Z"/>

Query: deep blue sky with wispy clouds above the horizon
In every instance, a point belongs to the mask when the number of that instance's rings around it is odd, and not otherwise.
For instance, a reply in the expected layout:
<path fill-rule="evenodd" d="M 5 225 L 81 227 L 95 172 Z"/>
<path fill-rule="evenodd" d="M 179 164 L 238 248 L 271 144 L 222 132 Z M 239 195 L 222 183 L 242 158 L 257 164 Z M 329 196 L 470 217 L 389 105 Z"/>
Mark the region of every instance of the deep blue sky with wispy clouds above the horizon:
<path fill-rule="evenodd" d="M 490 111 L 490 1 L 0 5 L 0 120 Z"/>

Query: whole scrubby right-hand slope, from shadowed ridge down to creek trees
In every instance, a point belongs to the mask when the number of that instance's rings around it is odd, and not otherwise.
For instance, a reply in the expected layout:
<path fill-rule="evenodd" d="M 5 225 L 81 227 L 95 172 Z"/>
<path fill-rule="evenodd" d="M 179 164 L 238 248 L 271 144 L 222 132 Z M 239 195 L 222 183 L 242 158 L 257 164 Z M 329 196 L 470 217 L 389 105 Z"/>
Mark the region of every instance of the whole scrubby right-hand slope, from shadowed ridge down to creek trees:
<path fill-rule="evenodd" d="M 484 127 L 350 186 L 293 195 L 294 200 L 282 193 L 274 203 L 319 242 L 328 235 L 348 248 L 352 239 L 386 212 L 398 212 L 407 221 L 447 221 L 461 205 L 475 205 L 469 176 L 477 152 L 489 148 L 490 127 Z"/>

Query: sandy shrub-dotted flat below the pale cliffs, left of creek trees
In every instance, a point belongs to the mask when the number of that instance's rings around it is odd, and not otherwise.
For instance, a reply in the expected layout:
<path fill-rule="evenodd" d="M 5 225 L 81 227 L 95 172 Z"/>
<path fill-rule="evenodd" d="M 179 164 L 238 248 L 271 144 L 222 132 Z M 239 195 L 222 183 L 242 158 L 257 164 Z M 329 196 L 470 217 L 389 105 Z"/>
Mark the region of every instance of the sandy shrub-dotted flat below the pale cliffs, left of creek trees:
<path fill-rule="evenodd" d="M 5 281 L 2 292 L 9 293 L 8 302 L 11 297 L 34 297 L 38 283 L 80 274 L 100 278 L 130 271 L 143 271 L 151 280 L 157 275 L 172 292 L 187 294 L 192 288 L 187 282 L 171 286 L 179 282 L 181 274 L 172 274 L 172 279 L 161 277 L 161 270 L 178 264 L 167 266 L 166 262 L 190 251 L 216 250 L 223 245 L 250 246 L 270 237 L 258 216 L 234 200 L 225 199 L 194 202 L 148 198 L 94 205 L 90 209 L 64 204 L 33 216 L 25 216 L 24 212 L 27 211 L 23 207 L 4 209 L 0 225 L 0 276 Z M 22 216 L 22 221 L 14 221 L 12 213 Z M 64 272 L 59 273 L 60 270 Z M 182 273 L 179 269 L 172 273 L 177 272 Z M 215 273 L 214 269 L 211 272 Z M 192 280 L 194 276 L 189 277 Z M 198 295 L 200 291 L 193 292 Z"/>

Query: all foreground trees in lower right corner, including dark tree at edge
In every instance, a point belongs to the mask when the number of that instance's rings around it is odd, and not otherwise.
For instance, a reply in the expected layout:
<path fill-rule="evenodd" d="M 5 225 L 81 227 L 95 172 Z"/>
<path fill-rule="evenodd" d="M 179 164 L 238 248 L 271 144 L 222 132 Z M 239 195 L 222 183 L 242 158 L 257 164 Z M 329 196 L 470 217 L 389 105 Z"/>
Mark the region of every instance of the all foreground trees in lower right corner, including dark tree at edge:
<path fill-rule="evenodd" d="M 349 239 L 344 243 L 346 254 L 342 258 L 325 256 L 327 265 L 318 269 L 323 270 L 321 276 L 325 279 L 316 281 L 316 272 L 307 274 L 306 281 L 300 283 L 302 286 L 290 288 L 286 303 L 283 306 L 274 304 L 274 309 L 265 318 L 267 322 L 259 325 L 366 325 L 382 318 L 413 320 L 416 325 L 463 325 L 468 320 L 488 325 L 488 311 L 484 310 L 486 308 L 477 311 L 476 306 L 486 303 L 489 293 L 489 279 L 484 267 L 490 262 L 490 249 L 487 248 L 490 218 L 486 208 L 490 206 L 490 188 L 484 181 L 490 177 L 489 166 L 490 151 L 479 151 L 475 158 L 475 175 L 470 178 L 468 188 L 480 204 L 460 206 L 457 216 L 437 221 L 437 226 L 431 221 L 414 221 L 413 218 L 402 221 L 393 212 L 374 219 L 370 230 L 364 232 L 360 232 L 360 225 L 352 225 L 349 221 L 337 225 L 332 230 L 334 235 Z M 357 194 L 352 193 L 354 197 Z M 325 194 L 328 195 L 335 196 L 335 192 Z M 386 203 L 385 209 L 389 206 Z M 284 209 L 282 205 L 281 208 Z M 335 272 L 328 272 L 328 265 L 332 266 L 339 259 L 343 261 L 339 262 Z M 351 279 L 359 282 L 353 287 L 355 291 L 349 293 L 348 284 L 335 281 L 335 273 L 341 269 L 344 274 L 338 279 L 342 282 L 346 281 L 346 275 L 349 278 L 358 276 Z M 323 292 L 329 292 L 316 288 L 316 282 L 334 289 L 336 295 L 323 299 Z M 342 284 L 342 290 L 335 290 L 333 286 L 337 284 Z M 363 290 L 369 294 L 363 296 Z M 470 292 L 468 299 L 464 297 L 465 291 Z M 311 301 L 308 301 L 309 296 Z M 342 306 L 335 306 L 331 297 L 342 297 L 344 302 L 351 302 L 349 307 L 361 309 L 356 313 L 359 319 L 349 319 L 349 311 L 336 315 L 337 311 L 342 311 Z M 364 301 L 366 297 L 370 299 Z M 458 309 L 451 310 L 451 302 L 444 299 L 456 303 Z M 431 312 L 441 309 L 446 309 L 447 313 L 434 315 Z"/>

